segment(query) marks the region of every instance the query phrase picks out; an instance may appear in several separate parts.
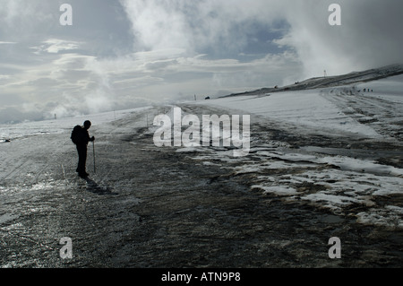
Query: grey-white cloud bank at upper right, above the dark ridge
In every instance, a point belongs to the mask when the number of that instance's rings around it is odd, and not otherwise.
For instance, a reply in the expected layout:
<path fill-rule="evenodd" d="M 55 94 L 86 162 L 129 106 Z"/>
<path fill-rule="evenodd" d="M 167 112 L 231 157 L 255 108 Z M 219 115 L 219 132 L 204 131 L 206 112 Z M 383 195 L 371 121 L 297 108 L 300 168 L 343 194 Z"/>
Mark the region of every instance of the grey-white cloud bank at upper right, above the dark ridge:
<path fill-rule="evenodd" d="M 330 26 L 334 1 L 296 1 L 285 10 L 290 29 L 276 43 L 296 51 L 304 76 L 343 74 L 403 62 L 401 1 L 340 0 L 341 26 Z"/>

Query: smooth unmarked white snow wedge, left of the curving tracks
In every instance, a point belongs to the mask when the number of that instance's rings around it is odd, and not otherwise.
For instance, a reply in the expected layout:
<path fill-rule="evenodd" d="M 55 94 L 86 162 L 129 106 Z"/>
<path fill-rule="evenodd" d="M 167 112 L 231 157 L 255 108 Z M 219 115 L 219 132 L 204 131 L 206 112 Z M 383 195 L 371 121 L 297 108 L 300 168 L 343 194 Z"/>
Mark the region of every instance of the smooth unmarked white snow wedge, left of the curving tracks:
<path fill-rule="evenodd" d="M 319 91 L 285 91 L 262 97 L 239 96 L 210 100 L 209 104 L 223 108 L 304 126 L 316 132 L 344 132 L 377 137 L 371 127 L 360 125 L 345 115 L 335 104 L 321 96 Z"/>

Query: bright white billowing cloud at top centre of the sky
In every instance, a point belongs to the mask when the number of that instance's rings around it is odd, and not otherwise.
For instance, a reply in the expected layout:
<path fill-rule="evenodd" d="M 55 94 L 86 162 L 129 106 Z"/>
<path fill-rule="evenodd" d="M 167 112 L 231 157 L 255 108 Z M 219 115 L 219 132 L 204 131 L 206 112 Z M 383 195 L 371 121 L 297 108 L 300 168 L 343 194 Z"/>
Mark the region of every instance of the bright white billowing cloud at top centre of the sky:
<path fill-rule="evenodd" d="M 239 49 L 253 34 L 253 24 L 278 17 L 267 1 L 122 0 L 132 22 L 134 48 L 182 48 L 188 54 L 203 48 Z M 269 4 L 269 5 L 268 5 Z M 276 3 L 273 3 L 279 5 Z M 219 46 L 219 47 L 217 47 Z"/>

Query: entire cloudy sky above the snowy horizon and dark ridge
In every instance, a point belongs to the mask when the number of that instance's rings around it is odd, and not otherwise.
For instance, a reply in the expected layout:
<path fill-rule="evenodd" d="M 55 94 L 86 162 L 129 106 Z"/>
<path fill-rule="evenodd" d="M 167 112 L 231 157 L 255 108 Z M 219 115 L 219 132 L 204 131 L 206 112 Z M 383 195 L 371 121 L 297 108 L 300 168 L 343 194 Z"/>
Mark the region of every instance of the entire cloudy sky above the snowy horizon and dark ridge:
<path fill-rule="evenodd" d="M 402 11 L 399 0 L 0 0 L 0 123 L 403 63 Z"/>

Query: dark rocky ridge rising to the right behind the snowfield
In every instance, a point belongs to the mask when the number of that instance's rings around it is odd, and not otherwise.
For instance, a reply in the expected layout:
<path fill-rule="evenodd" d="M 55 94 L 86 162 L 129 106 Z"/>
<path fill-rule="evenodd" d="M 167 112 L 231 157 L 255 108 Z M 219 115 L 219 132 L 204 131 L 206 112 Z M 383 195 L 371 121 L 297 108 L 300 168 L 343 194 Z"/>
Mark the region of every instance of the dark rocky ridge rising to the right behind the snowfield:
<path fill-rule="evenodd" d="M 394 75 L 403 74 L 403 65 L 386 65 L 380 68 L 373 68 L 362 72 L 352 72 L 349 74 L 341 74 L 335 76 L 314 77 L 304 82 L 296 82 L 282 87 L 262 88 L 255 91 L 245 91 L 233 93 L 224 97 L 238 95 L 259 95 L 269 92 L 279 91 L 304 91 L 318 88 L 327 88 L 333 86 L 347 85 L 358 82 L 372 82 Z"/>

